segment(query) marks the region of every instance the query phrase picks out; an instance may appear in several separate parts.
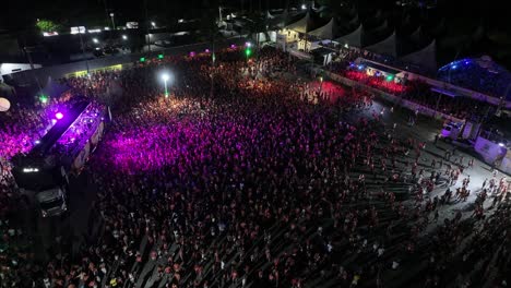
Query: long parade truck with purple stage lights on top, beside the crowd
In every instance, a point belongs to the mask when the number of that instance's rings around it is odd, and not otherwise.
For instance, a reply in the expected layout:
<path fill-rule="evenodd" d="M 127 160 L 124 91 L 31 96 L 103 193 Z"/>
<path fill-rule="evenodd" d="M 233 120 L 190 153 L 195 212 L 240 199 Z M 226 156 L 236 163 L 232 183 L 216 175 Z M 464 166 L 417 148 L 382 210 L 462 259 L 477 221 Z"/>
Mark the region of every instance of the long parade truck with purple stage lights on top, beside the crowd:
<path fill-rule="evenodd" d="M 43 217 L 68 211 L 69 179 L 78 176 L 97 146 L 105 127 L 103 106 L 78 100 L 62 108 L 54 125 L 27 154 L 12 158 L 12 173 L 22 195 Z"/>

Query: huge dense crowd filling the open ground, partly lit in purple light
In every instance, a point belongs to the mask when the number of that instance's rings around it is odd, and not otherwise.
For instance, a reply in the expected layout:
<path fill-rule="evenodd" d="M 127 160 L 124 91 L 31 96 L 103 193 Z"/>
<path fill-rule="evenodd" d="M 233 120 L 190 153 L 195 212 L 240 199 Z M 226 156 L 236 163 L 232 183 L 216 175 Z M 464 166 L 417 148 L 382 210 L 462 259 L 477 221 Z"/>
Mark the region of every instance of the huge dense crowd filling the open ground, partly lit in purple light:
<path fill-rule="evenodd" d="M 507 287 L 504 178 L 472 192 L 473 215 L 440 216 L 471 193 L 473 160 L 430 161 L 433 144 L 402 137 L 369 93 L 296 74 L 264 48 L 64 80 L 97 100 L 122 89 L 86 166 L 100 232 L 44 263 L 2 254 L 0 286 Z"/>

